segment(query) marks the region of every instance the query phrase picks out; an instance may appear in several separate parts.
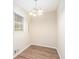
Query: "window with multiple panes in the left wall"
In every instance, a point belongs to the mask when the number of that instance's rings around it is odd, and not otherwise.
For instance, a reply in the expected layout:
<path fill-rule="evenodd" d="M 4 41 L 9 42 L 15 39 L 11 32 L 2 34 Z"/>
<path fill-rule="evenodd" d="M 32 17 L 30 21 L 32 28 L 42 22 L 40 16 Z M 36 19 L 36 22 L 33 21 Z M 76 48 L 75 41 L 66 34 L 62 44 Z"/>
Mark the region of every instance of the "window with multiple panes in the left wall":
<path fill-rule="evenodd" d="M 14 13 L 14 30 L 22 31 L 23 30 L 23 17 Z"/>

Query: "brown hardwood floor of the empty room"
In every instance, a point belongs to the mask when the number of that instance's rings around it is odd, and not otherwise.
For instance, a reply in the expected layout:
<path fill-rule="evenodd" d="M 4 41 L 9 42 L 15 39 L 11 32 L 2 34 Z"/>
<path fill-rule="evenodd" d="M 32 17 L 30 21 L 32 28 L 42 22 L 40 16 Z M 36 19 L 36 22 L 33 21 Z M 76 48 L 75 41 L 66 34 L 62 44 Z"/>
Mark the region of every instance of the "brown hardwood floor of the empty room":
<path fill-rule="evenodd" d="M 14 59 L 59 59 L 56 49 L 32 45 Z"/>

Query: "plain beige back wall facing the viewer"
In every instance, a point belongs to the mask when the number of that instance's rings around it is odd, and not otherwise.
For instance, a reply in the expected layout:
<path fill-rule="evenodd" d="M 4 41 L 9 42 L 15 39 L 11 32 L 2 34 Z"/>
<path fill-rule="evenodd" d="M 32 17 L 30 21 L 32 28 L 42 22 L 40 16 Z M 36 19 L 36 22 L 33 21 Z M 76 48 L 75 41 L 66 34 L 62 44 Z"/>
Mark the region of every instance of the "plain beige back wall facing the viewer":
<path fill-rule="evenodd" d="M 49 12 L 42 16 L 34 17 L 29 24 L 29 32 L 33 45 L 56 48 L 56 12 Z"/>

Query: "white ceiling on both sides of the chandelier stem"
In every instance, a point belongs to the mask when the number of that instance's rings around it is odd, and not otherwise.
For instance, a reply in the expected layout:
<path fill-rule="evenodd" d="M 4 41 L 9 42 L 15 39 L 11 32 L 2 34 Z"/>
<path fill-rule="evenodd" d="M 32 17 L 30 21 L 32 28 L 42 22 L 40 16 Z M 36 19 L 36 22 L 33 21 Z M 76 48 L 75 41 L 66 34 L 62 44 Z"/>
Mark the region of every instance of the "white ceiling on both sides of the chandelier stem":
<path fill-rule="evenodd" d="M 37 5 L 45 12 L 50 12 L 56 10 L 58 2 L 59 0 L 38 0 Z M 21 6 L 26 11 L 30 11 L 34 7 L 34 3 L 34 0 L 14 0 L 14 4 Z"/>

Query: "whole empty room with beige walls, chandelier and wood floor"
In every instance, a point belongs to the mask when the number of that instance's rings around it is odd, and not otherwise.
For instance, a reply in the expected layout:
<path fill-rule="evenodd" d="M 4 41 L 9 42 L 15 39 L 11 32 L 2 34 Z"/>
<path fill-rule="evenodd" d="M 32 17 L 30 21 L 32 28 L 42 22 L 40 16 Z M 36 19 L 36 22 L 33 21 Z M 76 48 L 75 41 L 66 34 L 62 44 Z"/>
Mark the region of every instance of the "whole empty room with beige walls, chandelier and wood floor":
<path fill-rule="evenodd" d="M 65 59 L 65 1 L 13 0 L 13 59 Z"/>

